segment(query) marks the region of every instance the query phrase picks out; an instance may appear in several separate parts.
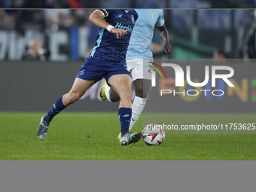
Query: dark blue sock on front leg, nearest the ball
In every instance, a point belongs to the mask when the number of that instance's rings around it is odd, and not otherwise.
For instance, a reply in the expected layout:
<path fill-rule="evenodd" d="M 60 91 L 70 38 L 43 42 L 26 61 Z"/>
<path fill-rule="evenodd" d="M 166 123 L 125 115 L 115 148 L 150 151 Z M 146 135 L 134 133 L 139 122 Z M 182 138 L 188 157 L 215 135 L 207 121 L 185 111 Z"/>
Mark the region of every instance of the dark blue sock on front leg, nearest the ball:
<path fill-rule="evenodd" d="M 131 108 L 119 108 L 118 117 L 121 125 L 121 134 L 122 136 L 129 132 L 130 120 L 132 117 L 132 109 Z"/>

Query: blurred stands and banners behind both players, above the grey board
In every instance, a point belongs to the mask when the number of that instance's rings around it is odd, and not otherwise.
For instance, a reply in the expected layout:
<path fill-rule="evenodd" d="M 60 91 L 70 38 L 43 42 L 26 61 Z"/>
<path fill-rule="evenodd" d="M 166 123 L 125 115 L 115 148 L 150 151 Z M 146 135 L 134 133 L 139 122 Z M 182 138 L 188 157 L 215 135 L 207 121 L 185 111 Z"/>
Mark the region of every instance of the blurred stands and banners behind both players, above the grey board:
<path fill-rule="evenodd" d="M 152 4 L 155 2 L 148 1 Z M 0 9 L 0 60 L 18 60 L 22 57 L 65 61 L 89 56 L 98 32 L 98 28 L 88 20 L 94 11 L 93 8 L 62 9 L 60 4 L 47 0 L 40 1 L 45 6 L 44 9 L 24 9 L 25 0 L 0 0 L 0 2 L 2 5 L 5 3 L 5 6 L 9 2 L 10 6 L 13 6 L 10 8 L 19 8 Z M 63 2 L 63 6 L 67 3 L 67 1 L 58 2 Z M 68 1 L 70 2 L 77 3 L 78 0 Z M 83 3 L 85 2 L 87 1 Z M 172 2 L 173 7 L 178 7 L 185 5 L 187 0 L 169 2 Z M 211 1 L 193 2 L 197 2 L 199 7 L 212 6 Z M 230 0 L 230 2 L 236 1 Z M 126 3 L 134 3 L 134 1 L 127 0 Z M 188 5 L 195 6 L 193 3 Z M 54 9 L 50 9 L 49 6 Z M 169 30 L 169 40 L 173 47 L 169 58 L 256 58 L 254 46 L 256 11 L 252 9 L 164 9 L 163 11 L 166 27 Z M 163 43 L 158 34 L 154 32 L 152 45 L 155 58 L 165 56 Z M 35 53 L 38 50 L 41 55 Z M 78 52 L 78 55 L 75 52 Z"/>

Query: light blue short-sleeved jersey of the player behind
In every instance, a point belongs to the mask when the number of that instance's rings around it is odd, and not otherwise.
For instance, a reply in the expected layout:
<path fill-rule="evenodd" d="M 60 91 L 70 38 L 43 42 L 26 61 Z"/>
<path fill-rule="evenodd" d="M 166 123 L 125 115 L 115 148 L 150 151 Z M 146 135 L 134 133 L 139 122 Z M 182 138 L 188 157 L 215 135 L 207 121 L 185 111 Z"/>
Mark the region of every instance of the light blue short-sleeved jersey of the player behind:
<path fill-rule="evenodd" d="M 154 26 L 163 26 L 163 10 L 161 9 L 136 9 L 139 17 L 133 28 L 130 38 L 127 59 L 152 59 L 151 44 Z"/>

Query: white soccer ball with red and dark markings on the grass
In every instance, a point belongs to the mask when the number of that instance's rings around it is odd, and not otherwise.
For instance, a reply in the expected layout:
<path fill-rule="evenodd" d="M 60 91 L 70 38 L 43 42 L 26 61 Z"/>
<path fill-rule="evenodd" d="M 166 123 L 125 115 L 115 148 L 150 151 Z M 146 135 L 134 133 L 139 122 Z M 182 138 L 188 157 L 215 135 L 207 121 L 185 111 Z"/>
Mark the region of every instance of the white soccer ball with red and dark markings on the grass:
<path fill-rule="evenodd" d="M 142 139 L 147 145 L 161 145 L 165 137 L 165 133 L 161 126 L 152 123 L 142 131 Z"/>

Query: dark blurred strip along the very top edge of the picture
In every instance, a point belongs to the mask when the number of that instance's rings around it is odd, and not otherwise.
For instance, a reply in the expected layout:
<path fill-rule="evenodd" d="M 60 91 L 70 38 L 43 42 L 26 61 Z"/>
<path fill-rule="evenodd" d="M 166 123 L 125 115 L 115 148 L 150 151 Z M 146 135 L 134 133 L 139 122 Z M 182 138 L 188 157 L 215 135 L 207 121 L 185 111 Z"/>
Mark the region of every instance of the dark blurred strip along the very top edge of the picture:
<path fill-rule="evenodd" d="M 0 8 L 254 8 L 256 0 L 0 0 Z"/>

